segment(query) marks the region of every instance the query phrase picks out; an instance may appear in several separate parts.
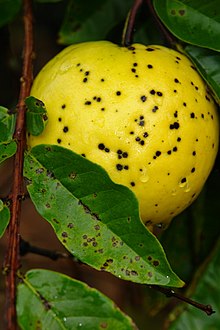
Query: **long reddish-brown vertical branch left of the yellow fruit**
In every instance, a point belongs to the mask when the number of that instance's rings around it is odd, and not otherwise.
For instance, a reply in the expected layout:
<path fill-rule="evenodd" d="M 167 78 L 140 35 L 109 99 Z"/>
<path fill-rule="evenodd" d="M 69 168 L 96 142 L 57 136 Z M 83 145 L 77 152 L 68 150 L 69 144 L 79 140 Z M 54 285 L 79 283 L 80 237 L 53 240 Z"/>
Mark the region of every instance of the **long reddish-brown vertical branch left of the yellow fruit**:
<path fill-rule="evenodd" d="M 24 46 L 23 70 L 19 100 L 17 104 L 17 121 L 14 139 L 17 142 L 17 152 L 14 157 L 14 173 L 11 192 L 11 220 L 8 228 L 8 247 L 5 258 L 4 271 L 6 274 L 6 327 L 8 330 L 17 328 L 16 317 L 16 273 L 19 268 L 19 222 L 21 212 L 21 196 L 24 195 L 23 161 L 26 147 L 25 132 L 25 103 L 30 94 L 32 84 L 33 57 L 33 15 L 32 1 L 23 0 L 24 10 Z"/>

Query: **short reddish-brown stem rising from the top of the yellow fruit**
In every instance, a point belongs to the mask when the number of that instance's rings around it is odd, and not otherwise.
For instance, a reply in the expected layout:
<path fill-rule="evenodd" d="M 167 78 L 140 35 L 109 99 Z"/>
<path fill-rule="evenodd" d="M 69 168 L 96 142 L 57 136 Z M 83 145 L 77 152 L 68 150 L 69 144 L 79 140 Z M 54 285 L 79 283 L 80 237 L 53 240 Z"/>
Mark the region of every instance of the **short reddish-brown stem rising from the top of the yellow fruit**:
<path fill-rule="evenodd" d="M 134 4 L 127 15 L 127 19 L 125 22 L 123 35 L 122 35 L 123 47 L 129 47 L 133 42 L 135 19 L 137 16 L 137 12 L 142 4 L 143 4 L 143 0 L 134 0 Z"/>

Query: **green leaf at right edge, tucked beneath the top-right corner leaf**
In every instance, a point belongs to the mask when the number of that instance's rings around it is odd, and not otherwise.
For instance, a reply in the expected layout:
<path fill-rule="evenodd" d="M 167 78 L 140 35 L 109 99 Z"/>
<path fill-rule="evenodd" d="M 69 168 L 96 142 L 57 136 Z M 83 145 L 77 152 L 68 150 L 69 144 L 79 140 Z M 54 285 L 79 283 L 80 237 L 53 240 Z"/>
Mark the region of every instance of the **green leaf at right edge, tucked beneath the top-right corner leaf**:
<path fill-rule="evenodd" d="M 220 31 L 219 31 L 220 33 Z M 219 35 L 220 38 L 220 35 Z M 220 54 L 208 49 L 188 45 L 185 48 L 201 76 L 211 88 L 216 102 L 220 103 Z"/>

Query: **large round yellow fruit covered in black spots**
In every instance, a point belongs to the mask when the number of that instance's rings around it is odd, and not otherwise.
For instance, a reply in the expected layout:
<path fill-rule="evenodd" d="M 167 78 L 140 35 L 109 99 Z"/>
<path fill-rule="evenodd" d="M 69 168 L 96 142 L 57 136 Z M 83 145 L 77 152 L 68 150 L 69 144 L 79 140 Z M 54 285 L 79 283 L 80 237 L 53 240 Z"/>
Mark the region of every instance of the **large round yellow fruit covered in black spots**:
<path fill-rule="evenodd" d="M 49 122 L 29 146 L 59 144 L 100 164 L 139 200 L 144 223 L 168 223 L 201 191 L 218 150 L 215 103 L 183 54 L 107 41 L 67 47 L 31 95 Z"/>

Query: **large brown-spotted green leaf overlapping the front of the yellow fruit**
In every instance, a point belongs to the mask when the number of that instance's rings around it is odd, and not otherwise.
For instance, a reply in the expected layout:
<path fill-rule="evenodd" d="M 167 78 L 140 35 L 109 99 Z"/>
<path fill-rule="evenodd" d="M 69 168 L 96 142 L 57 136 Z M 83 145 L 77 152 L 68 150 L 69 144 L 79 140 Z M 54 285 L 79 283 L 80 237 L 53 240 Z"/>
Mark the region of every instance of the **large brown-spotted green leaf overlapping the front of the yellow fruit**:
<path fill-rule="evenodd" d="M 26 155 L 24 175 L 38 212 L 81 261 L 137 283 L 183 285 L 140 221 L 134 194 L 100 166 L 65 148 L 39 145 Z"/>

